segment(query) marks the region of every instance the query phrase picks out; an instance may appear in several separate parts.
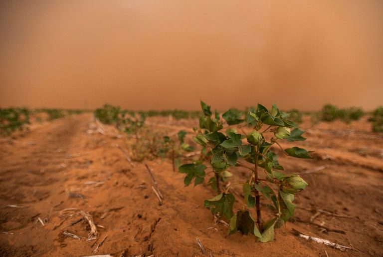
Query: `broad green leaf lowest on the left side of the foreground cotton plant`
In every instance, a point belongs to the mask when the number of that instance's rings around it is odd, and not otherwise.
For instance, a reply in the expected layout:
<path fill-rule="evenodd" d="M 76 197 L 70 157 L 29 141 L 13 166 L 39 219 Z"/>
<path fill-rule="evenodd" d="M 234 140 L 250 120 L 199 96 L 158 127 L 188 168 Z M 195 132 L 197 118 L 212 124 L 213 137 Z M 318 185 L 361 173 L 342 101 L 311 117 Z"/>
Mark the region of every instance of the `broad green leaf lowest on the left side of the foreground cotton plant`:
<path fill-rule="evenodd" d="M 234 215 L 233 205 L 235 202 L 235 197 L 232 194 L 219 194 L 216 197 L 205 200 L 203 207 L 210 209 L 210 212 L 213 215 L 224 216 L 228 220 Z"/>

